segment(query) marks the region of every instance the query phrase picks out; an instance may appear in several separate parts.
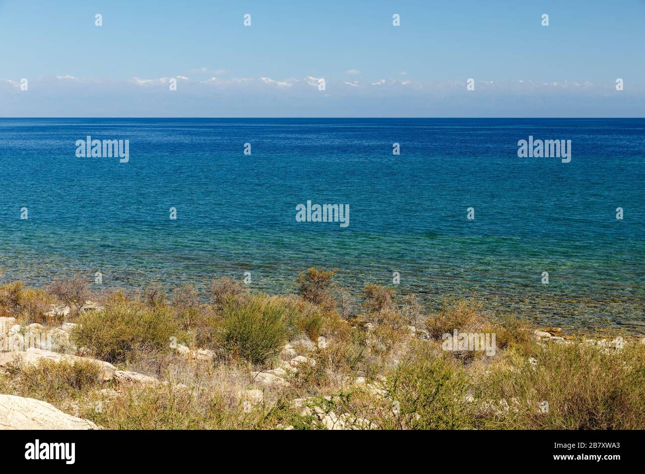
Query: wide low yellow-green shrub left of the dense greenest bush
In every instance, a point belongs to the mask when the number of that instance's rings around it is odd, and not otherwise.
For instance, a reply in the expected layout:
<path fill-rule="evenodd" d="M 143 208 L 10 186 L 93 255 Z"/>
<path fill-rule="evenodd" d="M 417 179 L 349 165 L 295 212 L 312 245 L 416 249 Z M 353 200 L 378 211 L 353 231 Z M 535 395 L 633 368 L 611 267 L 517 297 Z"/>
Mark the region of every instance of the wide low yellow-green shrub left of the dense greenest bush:
<path fill-rule="evenodd" d="M 164 351 L 170 337 L 181 337 L 172 311 L 127 302 L 104 311 L 88 311 L 77 319 L 72 340 L 108 362 L 124 362 L 134 351 Z"/>

